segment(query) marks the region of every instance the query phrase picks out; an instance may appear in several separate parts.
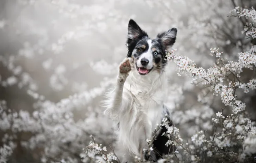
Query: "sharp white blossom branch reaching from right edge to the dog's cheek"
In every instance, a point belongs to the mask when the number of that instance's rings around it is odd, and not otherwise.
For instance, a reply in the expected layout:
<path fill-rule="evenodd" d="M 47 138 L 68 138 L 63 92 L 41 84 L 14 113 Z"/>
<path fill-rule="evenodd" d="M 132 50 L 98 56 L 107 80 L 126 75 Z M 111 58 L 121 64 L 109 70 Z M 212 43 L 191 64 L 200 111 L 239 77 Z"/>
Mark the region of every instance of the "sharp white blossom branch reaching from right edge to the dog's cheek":
<path fill-rule="evenodd" d="M 210 52 L 216 55 L 220 53 L 219 49 L 216 48 L 210 49 Z M 251 79 L 249 82 L 250 87 L 247 87 L 247 84 L 241 84 L 239 82 L 239 77 L 243 68 L 253 69 L 256 66 L 255 54 L 249 52 L 239 53 L 237 62 L 225 63 L 224 59 L 219 58 L 217 63 L 207 70 L 202 67 L 197 68 L 195 64 L 192 63 L 192 60 L 189 60 L 187 57 L 175 55 L 173 51 L 169 52 L 167 55 L 171 56 L 169 58 L 173 58 L 180 73 L 186 72 L 186 75 L 193 77 L 193 84 L 198 84 L 198 81 L 200 81 L 204 85 L 210 85 L 214 90 L 213 94 L 220 94 L 222 103 L 224 103 L 225 106 L 232 106 L 235 114 L 245 109 L 245 103 L 236 100 L 234 93 L 237 88 L 244 88 L 246 93 L 249 92 L 249 88 L 254 89 L 255 79 Z M 228 75 L 232 75 L 237 81 L 229 81 L 229 78 L 226 78 Z M 225 81 L 227 84 L 224 82 L 225 78 L 227 79 Z"/>

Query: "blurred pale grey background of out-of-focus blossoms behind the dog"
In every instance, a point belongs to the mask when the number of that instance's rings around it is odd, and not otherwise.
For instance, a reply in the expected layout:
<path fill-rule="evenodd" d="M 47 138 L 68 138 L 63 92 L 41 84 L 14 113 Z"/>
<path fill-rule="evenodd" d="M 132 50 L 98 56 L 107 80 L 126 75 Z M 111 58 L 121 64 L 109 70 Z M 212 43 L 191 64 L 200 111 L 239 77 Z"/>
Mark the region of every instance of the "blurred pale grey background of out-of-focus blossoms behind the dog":
<path fill-rule="evenodd" d="M 256 8 L 256 1 L 1 0 L 0 162 L 79 163 L 89 135 L 113 143 L 115 124 L 102 115 L 101 100 L 126 57 L 130 18 L 152 38 L 177 27 L 173 48 L 208 68 L 216 59 L 210 48 L 236 60 L 256 44 L 241 32 L 246 20 L 228 16 L 235 6 Z M 208 119 L 221 100 L 177 75 L 173 62 L 167 69 L 167 105 L 184 139 L 212 130 Z M 255 72 L 243 74 L 246 82 Z M 255 95 L 239 95 L 254 119 Z"/>

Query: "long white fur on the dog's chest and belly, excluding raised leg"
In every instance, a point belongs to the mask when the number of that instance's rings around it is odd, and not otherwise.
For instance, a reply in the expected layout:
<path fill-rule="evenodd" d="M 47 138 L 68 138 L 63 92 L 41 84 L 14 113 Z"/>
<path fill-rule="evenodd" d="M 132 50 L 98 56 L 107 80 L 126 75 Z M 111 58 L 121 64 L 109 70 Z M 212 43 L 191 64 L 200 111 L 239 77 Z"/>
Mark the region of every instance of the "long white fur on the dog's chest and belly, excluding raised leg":
<path fill-rule="evenodd" d="M 124 84 L 122 99 L 128 105 L 119 113 L 118 144 L 133 155 L 142 154 L 146 139 L 161 122 L 167 85 L 164 75 L 131 72 Z"/>

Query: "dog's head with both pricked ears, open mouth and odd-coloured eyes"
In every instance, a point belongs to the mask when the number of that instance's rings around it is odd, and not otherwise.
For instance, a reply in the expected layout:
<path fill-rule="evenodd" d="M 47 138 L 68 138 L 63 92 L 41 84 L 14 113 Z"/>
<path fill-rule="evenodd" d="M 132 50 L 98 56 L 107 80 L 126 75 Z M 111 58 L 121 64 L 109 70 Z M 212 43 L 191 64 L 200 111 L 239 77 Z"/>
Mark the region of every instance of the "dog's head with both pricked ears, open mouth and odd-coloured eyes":
<path fill-rule="evenodd" d="M 146 75 L 154 70 L 161 72 L 167 63 L 165 49 L 174 45 L 176 34 L 177 29 L 171 28 L 158 33 L 155 39 L 150 39 L 134 20 L 129 21 L 127 57 L 132 58 L 132 64 L 140 75 Z"/>

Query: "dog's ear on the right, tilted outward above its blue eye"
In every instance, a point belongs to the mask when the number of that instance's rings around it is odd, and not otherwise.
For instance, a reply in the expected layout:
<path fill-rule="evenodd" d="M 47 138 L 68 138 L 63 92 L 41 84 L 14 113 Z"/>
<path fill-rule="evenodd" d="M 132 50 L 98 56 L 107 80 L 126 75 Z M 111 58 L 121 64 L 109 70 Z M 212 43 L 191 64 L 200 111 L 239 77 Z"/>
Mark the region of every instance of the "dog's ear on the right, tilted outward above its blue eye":
<path fill-rule="evenodd" d="M 171 48 L 172 45 L 174 45 L 176 41 L 176 35 L 177 35 L 177 28 L 171 28 L 170 30 L 162 33 L 158 33 L 156 36 L 159 39 L 162 39 L 162 42 L 165 45 L 165 48 Z"/>

